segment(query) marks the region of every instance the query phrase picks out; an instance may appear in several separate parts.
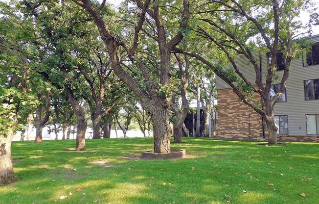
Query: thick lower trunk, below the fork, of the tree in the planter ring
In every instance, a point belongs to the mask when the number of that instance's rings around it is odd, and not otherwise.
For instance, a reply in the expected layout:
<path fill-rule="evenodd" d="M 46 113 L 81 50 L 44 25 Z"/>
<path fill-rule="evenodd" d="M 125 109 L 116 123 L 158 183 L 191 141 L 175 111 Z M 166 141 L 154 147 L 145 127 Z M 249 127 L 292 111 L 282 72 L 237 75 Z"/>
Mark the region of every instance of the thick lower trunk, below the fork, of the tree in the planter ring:
<path fill-rule="evenodd" d="M 169 108 L 160 105 L 155 107 L 152 113 L 153 135 L 154 135 L 154 152 L 170 153 L 170 137 L 172 128 L 169 124 Z"/>

